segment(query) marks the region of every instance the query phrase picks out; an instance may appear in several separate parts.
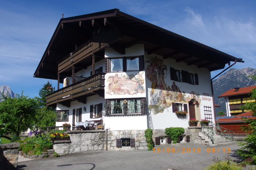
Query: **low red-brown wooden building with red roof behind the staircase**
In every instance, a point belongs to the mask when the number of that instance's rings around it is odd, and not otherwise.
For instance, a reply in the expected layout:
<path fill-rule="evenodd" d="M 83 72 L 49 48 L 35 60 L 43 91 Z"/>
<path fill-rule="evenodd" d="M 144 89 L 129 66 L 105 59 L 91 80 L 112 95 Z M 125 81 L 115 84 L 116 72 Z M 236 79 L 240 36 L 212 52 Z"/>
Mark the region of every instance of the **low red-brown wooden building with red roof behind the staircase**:
<path fill-rule="evenodd" d="M 249 111 L 236 116 L 216 117 L 216 122 L 221 127 L 231 130 L 234 133 L 245 133 L 245 131 L 241 129 L 241 126 L 249 126 L 249 123 L 245 123 L 246 118 L 256 119 L 252 116 L 252 112 Z"/>

